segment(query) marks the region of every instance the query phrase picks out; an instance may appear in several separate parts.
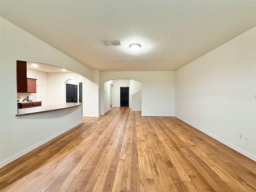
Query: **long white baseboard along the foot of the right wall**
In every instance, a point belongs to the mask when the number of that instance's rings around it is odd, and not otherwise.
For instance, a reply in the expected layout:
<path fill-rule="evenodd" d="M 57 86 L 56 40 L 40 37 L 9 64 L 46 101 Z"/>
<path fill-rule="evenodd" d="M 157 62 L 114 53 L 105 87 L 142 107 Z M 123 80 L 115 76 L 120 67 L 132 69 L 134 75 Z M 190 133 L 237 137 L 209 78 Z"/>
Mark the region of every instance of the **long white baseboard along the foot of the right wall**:
<path fill-rule="evenodd" d="M 182 119 L 178 116 L 175 116 L 175 117 L 256 162 L 256 156 L 254 154 L 248 153 L 247 151 L 239 148 L 238 146 L 235 146 L 235 145 L 231 144 L 230 142 L 228 142 L 226 140 L 223 140 L 222 138 L 219 138 L 218 136 L 216 136 L 214 134 L 211 134 L 210 132 L 208 132 L 208 131 L 206 131 L 206 130 L 204 130 L 204 129 L 202 129 L 202 128 L 200 128 L 200 127 L 198 127 L 198 126 L 196 126 L 196 125 L 194 125 L 194 124 L 192 124 L 192 123 L 190 123 L 190 122 L 188 122 L 188 121 L 186 121 L 186 120 L 184 120 L 184 119 Z"/>

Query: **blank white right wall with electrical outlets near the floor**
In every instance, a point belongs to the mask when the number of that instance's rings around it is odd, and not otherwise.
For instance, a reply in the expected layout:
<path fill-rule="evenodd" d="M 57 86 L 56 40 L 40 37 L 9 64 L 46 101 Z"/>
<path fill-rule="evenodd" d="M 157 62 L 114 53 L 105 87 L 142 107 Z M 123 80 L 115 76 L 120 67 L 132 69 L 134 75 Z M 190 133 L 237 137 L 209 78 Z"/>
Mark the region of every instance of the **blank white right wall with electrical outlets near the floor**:
<path fill-rule="evenodd" d="M 177 70 L 175 94 L 176 117 L 254 160 L 255 34 L 254 27 Z"/>

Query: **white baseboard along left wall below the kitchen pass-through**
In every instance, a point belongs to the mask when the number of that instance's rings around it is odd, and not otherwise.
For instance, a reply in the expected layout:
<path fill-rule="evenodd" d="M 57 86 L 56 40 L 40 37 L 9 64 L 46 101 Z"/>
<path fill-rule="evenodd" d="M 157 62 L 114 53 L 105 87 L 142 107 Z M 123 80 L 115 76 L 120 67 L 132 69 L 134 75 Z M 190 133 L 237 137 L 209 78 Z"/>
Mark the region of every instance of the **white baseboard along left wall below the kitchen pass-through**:
<path fill-rule="evenodd" d="M 56 133 L 56 134 L 54 134 L 54 135 L 52 135 L 52 136 L 50 136 L 50 137 L 48 137 L 48 138 L 46 138 L 46 139 L 44 139 L 44 140 L 42 140 L 42 141 L 40 141 L 40 142 L 38 142 L 38 143 L 36 143 L 36 144 L 30 146 L 29 148 L 26 148 L 26 149 L 24 149 L 24 150 L 18 152 L 17 154 L 15 154 L 15 155 L 13 155 L 13 156 L 11 156 L 11 157 L 9 157 L 9 158 L 3 160 L 2 162 L 0 162 L 0 168 L 2 168 L 3 166 L 6 166 L 6 165 L 9 164 L 10 162 L 12 162 L 12 161 L 14 161 L 14 160 L 20 158 L 21 156 L 27 154 L 28 152 L 34 150 L 35 148 L 38 148 L 38 147 L 41 146 L 42 144 L 45 144 L 46 142 L 48 142 L 48 141 L 50 141 L 50 140 L 56 138 L 57 136 L 59 136 L 59 135 L 61 135 L 62 133 L 64 133 L 64 132 L 66 132 L 66 131 L 68 131 L 68 130 L 74 128 L 75 126 L 77 126 L 77 125 L 79 125 L 79 124 L 81 124 L 81 123 L 82 123 L 82 120 L 79 121 L 78 123 L 72 125 L 72 126 L 69 126 L 69 127 L 66 128 L 66 129 L 61 130 L 60 132 L 58 132 L 58 133 Z"/>

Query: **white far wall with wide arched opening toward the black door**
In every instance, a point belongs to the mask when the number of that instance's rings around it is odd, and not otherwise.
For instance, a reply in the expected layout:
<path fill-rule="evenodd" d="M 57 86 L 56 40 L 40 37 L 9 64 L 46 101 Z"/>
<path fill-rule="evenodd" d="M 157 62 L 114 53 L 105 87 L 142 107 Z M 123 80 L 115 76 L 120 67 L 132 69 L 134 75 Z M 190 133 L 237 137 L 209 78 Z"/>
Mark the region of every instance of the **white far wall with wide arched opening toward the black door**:
<path fill-rule="evenodd" d="M 118 78 L 142 82 L 142 115 L 174 116 L 174 71 L 101 72 L 102 85 L 108 80 Z"/>

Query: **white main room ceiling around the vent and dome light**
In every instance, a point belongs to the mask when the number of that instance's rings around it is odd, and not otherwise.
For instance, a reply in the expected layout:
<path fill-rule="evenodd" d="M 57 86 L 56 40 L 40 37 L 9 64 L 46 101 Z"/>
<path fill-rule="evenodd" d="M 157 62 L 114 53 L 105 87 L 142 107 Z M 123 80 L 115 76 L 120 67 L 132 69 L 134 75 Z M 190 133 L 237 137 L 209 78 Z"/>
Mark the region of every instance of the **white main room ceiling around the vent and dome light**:
<path fill-rule="evenodd" d="M 256 26 L 255 0 L 0 3 L 3 18 L 101 71 L 177 70 Z"/>

